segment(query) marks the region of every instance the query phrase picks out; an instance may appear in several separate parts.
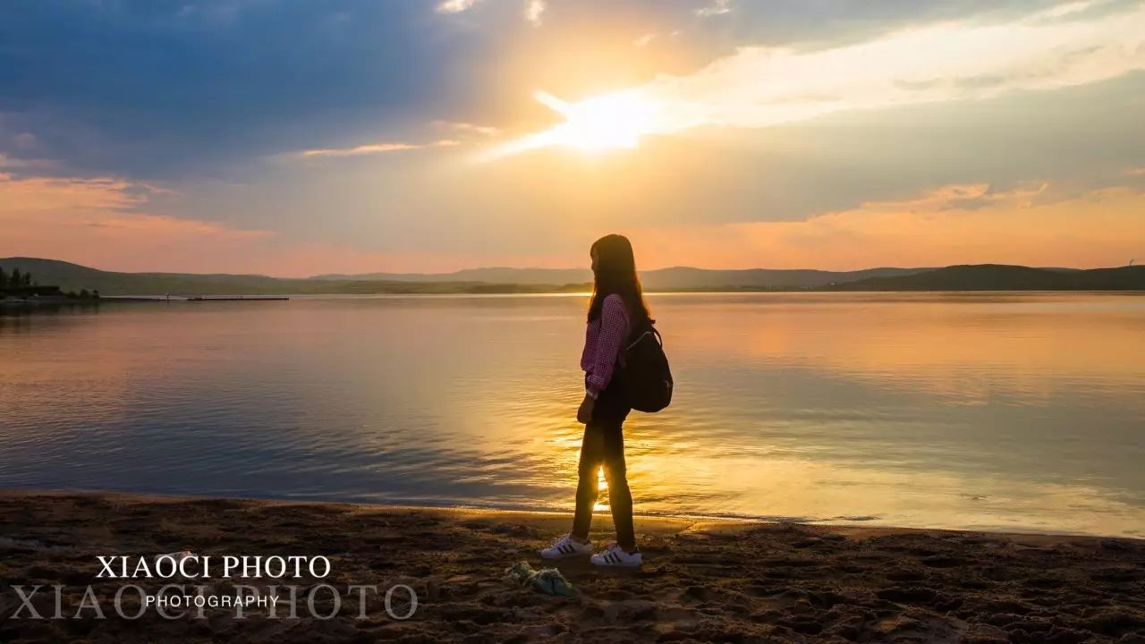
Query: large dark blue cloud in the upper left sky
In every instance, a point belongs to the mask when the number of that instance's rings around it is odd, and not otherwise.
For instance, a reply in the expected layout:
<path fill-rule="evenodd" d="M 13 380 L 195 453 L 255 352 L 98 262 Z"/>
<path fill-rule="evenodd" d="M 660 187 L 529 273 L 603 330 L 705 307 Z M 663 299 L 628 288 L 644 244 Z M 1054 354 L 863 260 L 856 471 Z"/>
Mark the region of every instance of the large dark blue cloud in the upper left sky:
<path fill-rule="evenodd" d="M 202 171 L 448 118 L 491 45 L 423 2 L 7 2 L 0 112 L 73 170 Z"/>

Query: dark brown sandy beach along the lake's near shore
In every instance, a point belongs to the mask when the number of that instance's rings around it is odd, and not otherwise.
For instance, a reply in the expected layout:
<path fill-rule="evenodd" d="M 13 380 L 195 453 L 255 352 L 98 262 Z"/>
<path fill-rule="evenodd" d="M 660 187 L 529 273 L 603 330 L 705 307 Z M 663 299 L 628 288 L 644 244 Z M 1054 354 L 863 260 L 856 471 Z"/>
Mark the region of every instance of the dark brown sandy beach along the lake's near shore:
<path fill-rule="evenodd" d="M 3 492 L 0 641 L 1145 642 L 1142 541 L 638 518 L 639 571 L 560 563 L 575 597 L 504 578 L 515 561 L 540 567 L 537 549 L 568 523 L 554 513 Z M 610 527 L 599 518 L 593 539 L 603 543 Z M 125 584 L 156 591 L 171 581 L 97 579 L 98 556 L 181 550 L 325 556 L 327 575 L 287 583 L 338 588 L 341 605 L 332 619 L 306 610 L 271 619 L 256 606 L 242 619 L 234 608 L 116 614 Z M 227 592 L 275 580 L 210 583 Z M 29 619 L 13 587 L 37 584 L 46 590 L 26 603 L 62 619 Z M 77 610 L 88 584 L 106 619 Z M 364 619 L 349 584 L 381 588 L 368 594 Z M 384 605 L 395 584 L 418 595 L 409 619 Z M 337 607 L 317 590 L 303 590 L 303 607 L 308 592 L 319 615 Z M 141 608 L 134 590 L 123 597 L 128 614 Z"/>

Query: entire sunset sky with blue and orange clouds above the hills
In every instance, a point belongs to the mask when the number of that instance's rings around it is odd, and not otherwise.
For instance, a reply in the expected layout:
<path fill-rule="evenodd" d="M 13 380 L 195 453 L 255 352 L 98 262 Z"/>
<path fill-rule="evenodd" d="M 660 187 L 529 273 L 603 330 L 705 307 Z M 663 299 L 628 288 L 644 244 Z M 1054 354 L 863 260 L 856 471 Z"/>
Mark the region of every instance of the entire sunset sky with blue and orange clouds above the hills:
<path fill-rule="evenodd" d="M 1145 261 L 1145 1 L 14 0 L 0 257 Z"/>

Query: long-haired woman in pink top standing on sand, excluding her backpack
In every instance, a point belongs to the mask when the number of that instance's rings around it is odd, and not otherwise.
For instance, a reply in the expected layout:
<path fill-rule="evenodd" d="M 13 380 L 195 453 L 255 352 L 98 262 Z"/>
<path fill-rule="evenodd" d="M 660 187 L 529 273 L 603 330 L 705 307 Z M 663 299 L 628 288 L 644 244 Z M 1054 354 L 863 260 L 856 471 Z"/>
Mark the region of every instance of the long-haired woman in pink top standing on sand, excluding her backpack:
<path fill-rule="evenodd" d="M 576 488 L 576 516 L 572 531 L 551 548 L 540 551 L 545 559 L 592 555 L 599 566 L 639 566 L 632 527 L 632 493 L 624 465 L 624 418 L 631 407 L 624 395 L 624 347 L 634 329 L 649 321 L 648 306 L 640 291 L 632 244 L 621 235 L 597 239 L 590 251 L 594 284 L 589 306 L 581 369 L 585 372 L 584 402 L 576 419 L 584 423 L 581 443 L 579 482 Z M 589 525 L 597 503 L 597 472 L 605 466 L 608 505 L 616 524 L 616 543 L 599 555 L 592 553 Z"/>

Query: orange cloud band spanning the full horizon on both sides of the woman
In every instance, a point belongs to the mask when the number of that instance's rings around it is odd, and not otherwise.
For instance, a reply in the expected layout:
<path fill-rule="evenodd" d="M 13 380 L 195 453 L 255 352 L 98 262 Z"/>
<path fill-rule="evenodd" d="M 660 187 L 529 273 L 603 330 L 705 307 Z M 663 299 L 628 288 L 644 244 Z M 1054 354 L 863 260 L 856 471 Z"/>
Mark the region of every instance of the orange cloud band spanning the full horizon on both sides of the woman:
<path fill-rule="evenodd" d="M 160 188 L 123 179 L 0 173 L 0 257 L 39 256 L 111 270 L 263 273 L 449 272 L 475 266 L 575 267 L 597 234 L 554 229 L 558 248 L 513 253 L 408 248 L 378 252 L 269 230 L 141 212 Z M 945 186 L 805 221 L 621 228 L 642 268 L 826 268 L 1025 264 L 1116 266 L 1145 252 L 1145 191 L 1079 196 L 1044 184 Z"/>

